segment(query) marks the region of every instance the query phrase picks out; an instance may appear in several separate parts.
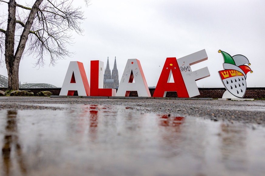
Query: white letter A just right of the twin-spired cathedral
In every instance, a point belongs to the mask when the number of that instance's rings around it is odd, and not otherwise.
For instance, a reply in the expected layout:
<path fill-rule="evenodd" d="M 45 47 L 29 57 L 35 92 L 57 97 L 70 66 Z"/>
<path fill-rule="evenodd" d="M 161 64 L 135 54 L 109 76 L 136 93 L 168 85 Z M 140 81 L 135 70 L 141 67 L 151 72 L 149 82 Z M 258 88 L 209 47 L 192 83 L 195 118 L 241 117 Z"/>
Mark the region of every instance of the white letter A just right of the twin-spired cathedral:
<path fill-rule="evenodd" d="M 129 96 L 130 91 L 137 91 L 138 96 L 151 97 L 140 61 L 137 59 L 127 60 L 116 96 Z"/>

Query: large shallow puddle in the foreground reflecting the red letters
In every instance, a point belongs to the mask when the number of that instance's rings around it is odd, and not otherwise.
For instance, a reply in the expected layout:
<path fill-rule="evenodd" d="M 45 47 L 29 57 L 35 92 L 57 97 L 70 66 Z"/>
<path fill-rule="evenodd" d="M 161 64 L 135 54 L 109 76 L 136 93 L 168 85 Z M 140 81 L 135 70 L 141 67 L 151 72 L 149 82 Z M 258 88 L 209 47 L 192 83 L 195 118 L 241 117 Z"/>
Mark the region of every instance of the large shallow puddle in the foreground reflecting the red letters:
<path fill-rule="evenodd" d="M 263 127 L 121 106 L 62 106 L 72 109 L 0 110 L 0 175 L 265 172 Z"/>

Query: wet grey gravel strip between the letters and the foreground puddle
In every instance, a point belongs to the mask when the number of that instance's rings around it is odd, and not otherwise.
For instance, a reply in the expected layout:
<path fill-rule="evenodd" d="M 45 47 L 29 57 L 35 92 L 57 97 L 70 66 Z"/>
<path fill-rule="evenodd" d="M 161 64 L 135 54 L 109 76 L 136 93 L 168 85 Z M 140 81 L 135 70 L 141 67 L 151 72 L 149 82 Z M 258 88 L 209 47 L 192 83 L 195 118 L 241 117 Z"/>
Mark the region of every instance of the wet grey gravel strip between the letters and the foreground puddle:
<path fill-rule="evenodd" d="M 40 105 L 43 104 L 43 105 Z M 58 104 L 50 106 L 51 104 Z M 243 122 L 265 126 L 265 101 L 221 101 L 183 99 L 95 99 L 50 97 L 0 97 L 0 109 L 67 110 L 59 104 L 123 106 L 124 111 L 159 113 L 173 116 L 195 116 L 229 123 Z"/>

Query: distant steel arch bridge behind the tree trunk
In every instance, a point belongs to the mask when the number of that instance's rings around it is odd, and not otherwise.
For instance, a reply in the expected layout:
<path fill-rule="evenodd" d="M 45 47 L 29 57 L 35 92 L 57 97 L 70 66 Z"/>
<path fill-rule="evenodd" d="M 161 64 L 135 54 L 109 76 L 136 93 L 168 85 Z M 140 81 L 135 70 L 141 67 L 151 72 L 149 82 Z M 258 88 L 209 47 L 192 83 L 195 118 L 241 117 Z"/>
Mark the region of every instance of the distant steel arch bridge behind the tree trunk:
<path fill-rule="evenodd" d="M 0 75 L 0 87 L 8 87 L 8 77 Z M 57 88 L 57 87 L 47 83 L 26 83 L 26 84 L 19 84 L 19 88 L 38 89 L 38 88 Z"/>

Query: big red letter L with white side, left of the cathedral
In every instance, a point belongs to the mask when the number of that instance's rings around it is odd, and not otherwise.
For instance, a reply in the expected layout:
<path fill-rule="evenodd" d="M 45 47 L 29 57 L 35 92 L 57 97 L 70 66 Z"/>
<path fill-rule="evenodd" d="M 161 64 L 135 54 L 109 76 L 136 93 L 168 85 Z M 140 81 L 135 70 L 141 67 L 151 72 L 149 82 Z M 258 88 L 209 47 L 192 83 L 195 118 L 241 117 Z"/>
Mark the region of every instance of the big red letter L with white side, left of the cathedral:
<path fill-rule="evenodd" d="M 116 89 L 103 89 L 104 62 L 90 61 L 90 96 L 116 96 Z"/>

